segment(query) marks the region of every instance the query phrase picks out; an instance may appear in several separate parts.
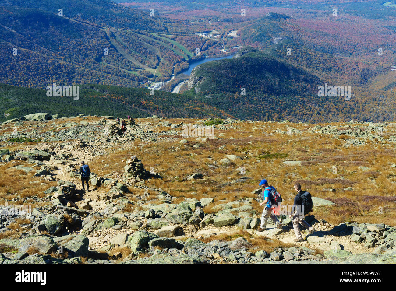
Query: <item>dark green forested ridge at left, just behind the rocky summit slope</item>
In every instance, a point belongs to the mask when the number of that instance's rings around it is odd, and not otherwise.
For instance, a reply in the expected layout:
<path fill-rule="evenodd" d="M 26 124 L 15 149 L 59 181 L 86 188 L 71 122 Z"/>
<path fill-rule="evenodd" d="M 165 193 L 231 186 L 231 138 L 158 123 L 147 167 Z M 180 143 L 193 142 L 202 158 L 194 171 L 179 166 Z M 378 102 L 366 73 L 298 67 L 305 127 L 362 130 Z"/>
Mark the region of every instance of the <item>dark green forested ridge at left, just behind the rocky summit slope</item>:
<path fill-rule="evenodd" d="M 47 97 L 46 90 L 15 87 L 0 83 L 0 121 L 21 116 L 46 112 L 58 117 L 78 114 L 128 115 L 150 117 L 153 114 L 173 117 L 221 116 L 228 114 L 198 100 L 190 100 L 183 95 L 141 88 L 123 88 L 105 85 L 80 86 L 78 100 L 73 97 Z"/>

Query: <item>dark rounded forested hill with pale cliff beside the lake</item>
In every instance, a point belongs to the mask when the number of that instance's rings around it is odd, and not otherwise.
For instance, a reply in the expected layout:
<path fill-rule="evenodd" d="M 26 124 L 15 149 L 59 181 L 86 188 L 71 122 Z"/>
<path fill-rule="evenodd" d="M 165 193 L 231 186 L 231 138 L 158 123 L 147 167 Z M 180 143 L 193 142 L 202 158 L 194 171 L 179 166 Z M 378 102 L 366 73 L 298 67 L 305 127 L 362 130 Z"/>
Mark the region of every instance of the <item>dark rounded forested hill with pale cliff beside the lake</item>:
<path fill-rule="evenodd" d="M 236 58 L 194 68 L 188 94 L 238 118 L 294 122 L 350 118 L 352 110 L 344 97 L 318 97 L 318 86 L 324 85 L 318 77 L 261 51 L 241 51 Z"/>

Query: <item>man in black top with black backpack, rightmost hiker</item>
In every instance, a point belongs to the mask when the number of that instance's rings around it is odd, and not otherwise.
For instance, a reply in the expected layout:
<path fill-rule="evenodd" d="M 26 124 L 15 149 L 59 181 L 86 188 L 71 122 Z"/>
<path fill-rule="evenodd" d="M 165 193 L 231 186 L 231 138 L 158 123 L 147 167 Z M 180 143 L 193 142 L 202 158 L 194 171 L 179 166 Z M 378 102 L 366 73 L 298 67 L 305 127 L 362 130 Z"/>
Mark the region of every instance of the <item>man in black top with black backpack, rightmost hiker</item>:
<path fill-rule="evenodd" d="M 294 204 L 291 208 L 289 218 L 293 217 L 293 229 L 296 235 L 294 242 L 303 242 L 304 239 L 303 236 L 301 236 L 299 224 L 307 228 L 308 234 L 312 234 L 315 231 L 315 228 L 304 220 L 305 215 L 312 211 L 312 197 L 308 191 L 301 190 L 301 185 L 299 183 L 294 185 L 294 190 L 297 191 L 297 195 L 294 198 Z"/>

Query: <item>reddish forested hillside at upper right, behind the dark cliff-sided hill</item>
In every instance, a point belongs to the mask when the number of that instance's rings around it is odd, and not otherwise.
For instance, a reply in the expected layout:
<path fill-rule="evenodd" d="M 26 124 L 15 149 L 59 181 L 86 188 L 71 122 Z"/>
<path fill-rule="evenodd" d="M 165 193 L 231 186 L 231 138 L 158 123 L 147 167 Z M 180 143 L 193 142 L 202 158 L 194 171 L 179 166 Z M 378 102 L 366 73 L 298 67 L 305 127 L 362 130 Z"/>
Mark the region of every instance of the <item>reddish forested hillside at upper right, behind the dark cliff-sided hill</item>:
<path fill-rule="evenodd" d="M 265 50 L 324 80 L 351 86 L 365 86 L 374 76 L 388 72 L 396 59 L 392 28 L 385 23 L 373 27 L 373 23 L 354 17 L 335 20 L 328 13 L 319 17 L 301 20 L 268 13 L 242 28 L 238 43 Z M 362 28 L 362 22 L 368 27 Z"/>

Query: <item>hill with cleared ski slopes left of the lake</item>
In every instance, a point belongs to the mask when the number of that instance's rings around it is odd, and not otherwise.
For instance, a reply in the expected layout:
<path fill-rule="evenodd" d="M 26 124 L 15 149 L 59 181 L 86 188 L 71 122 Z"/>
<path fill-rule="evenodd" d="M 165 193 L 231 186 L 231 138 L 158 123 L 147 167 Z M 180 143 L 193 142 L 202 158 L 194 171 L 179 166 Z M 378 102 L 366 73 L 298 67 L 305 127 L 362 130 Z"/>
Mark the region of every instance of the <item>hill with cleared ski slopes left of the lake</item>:
<path fill-rule="evenodd" d="M 45 88 L 167 81 L 175 67 L 188 67 L 196 48 L 213 45 L 191 25 L 109 0 L 2 1 L 0 82 Z"/>

